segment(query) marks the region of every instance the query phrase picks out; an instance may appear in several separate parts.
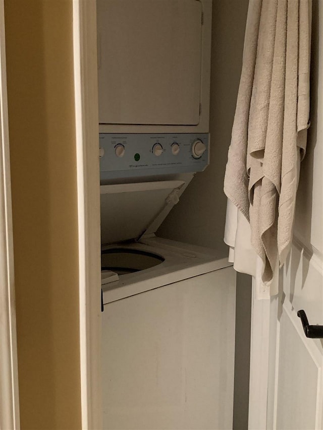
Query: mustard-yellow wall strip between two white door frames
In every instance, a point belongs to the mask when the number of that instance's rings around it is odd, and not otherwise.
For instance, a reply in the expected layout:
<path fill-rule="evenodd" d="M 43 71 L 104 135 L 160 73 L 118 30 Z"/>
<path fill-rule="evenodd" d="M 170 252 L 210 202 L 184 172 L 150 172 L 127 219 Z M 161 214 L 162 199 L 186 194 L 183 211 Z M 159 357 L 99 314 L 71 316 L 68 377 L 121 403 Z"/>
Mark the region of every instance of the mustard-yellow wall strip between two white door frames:
<path fill-rule="evenodd" d="M 72 2 L 5 14 L 21 426 L 80 428 Z"/>

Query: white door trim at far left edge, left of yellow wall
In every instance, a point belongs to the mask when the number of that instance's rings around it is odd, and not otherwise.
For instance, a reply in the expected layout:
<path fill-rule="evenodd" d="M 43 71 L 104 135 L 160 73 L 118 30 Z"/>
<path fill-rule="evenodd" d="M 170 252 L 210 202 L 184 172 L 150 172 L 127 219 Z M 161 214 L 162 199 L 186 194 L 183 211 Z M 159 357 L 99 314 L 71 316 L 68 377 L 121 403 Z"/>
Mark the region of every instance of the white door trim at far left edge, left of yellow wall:
<path fill-rule="evenodd" d="M 20 428 L 4 0 L 0 0 L 0 429 Z"/>

